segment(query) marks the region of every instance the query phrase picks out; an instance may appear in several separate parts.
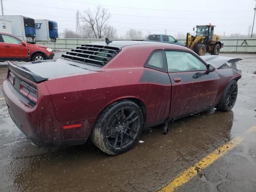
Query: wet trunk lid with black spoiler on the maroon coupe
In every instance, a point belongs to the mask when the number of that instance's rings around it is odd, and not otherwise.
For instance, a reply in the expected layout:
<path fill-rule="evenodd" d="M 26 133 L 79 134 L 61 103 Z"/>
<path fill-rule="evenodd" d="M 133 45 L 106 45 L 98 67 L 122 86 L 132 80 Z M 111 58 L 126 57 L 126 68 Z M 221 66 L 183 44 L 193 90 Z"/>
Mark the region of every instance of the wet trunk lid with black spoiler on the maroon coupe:
<path fill-rule="evenodd" d="M 63 58 L 26 63 L 8 62 L 8 64 L 11 70 L 33 82 L 42 82 L 49 78 L 58 78 L 79 73 L 92 73 L 101 69 L 98 66 L 73 62 Z"/>

